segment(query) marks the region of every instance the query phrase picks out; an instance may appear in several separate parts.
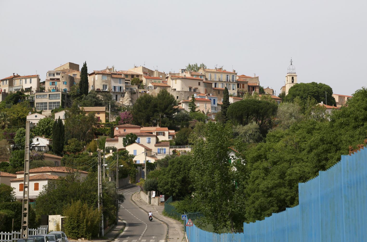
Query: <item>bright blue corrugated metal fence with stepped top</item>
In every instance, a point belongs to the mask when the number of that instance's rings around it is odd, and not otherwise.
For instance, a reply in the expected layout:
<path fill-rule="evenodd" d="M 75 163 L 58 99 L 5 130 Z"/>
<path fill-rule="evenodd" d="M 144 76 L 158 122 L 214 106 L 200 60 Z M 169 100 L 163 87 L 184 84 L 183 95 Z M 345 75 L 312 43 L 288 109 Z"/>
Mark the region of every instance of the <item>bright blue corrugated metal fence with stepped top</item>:
<path fill-rule="evenodd" d="M 255 223 L 240 234 L 186 227 L 189 242 L 367 241 L 367 149 L 298 184 L 299 205 Z"/>

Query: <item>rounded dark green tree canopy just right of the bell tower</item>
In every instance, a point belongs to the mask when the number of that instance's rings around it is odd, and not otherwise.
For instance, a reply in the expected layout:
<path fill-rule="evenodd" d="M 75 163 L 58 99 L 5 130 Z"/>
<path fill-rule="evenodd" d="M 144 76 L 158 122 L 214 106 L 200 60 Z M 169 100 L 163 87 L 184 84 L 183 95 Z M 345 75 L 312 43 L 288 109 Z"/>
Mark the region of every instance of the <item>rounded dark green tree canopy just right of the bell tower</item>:
<path fill-rule="evenodd" d="M 325 100 L 325 94 L 327 100 Z M 335 98 L 333 97 L 333 89 L 324 83 L 297 83 L 292 86 L 286 96 L 287 101 L 292 101 L 296 97 L 306 101 L 309 97 L 314 98 L 318 103 L 327 103 L 331 106 L 336 106 Z"/>

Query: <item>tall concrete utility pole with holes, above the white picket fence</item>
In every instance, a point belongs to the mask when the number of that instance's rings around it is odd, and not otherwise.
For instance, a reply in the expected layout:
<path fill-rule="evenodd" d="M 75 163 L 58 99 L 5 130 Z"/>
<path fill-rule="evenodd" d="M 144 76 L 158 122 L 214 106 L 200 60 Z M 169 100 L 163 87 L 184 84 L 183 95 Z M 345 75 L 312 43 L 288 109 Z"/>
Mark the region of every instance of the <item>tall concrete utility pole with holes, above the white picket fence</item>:
<path fill-rule="evenodd" d="M 23 210 L 22 210 L 22 229 L 21 238 L 28 238 L 28 211 L 29 211 L 29 124 L 25 123 L 25 154 L 24 154 L 24 176 L 23 176 Z"/>

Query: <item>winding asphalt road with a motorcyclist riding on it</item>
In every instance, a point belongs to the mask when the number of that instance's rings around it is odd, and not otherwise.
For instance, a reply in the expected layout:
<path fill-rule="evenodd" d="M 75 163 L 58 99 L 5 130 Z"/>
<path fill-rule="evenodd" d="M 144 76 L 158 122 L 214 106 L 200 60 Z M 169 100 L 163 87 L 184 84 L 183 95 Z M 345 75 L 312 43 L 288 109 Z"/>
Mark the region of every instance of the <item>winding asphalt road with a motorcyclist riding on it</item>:
<path fill-rule="evenodd" d="M 138 187 L 129 187 L 122 190 L 125 201 L 120 206 L 119 217 L 126 221 L 126 228 L 116 242 L 165 242 L 166 226 L 154 218 L 149 221 L 146 212 L 135 205 L 130 197 L 139 191 Z"/>

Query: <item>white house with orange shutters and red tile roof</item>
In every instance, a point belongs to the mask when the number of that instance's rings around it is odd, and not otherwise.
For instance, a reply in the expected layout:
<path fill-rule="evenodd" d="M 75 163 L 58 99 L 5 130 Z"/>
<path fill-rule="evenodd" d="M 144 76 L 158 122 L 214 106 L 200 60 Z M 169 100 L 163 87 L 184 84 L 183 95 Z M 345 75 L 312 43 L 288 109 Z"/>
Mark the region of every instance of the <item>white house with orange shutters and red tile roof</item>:
<path fill-rule="evenodd" d="M 80 179 L 88 175 L 86 171 L 76 171 L 69 167 L 39 167 L 29 170 L 29 199 L 33 202 L 39 193 L 43 190 L 43 186 L 47 185 L 52 180 L 57 180 L 60 177 L 65 177 L 71 172 L 77 172 Z M 24 171 L 16 172 L 17 178 L 11 179 L 11 186 L 14 188 L 15 197 L 18 200 L 23 198 L 23 176 Z"/>

